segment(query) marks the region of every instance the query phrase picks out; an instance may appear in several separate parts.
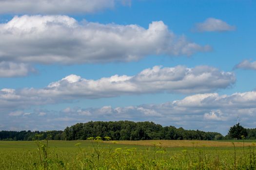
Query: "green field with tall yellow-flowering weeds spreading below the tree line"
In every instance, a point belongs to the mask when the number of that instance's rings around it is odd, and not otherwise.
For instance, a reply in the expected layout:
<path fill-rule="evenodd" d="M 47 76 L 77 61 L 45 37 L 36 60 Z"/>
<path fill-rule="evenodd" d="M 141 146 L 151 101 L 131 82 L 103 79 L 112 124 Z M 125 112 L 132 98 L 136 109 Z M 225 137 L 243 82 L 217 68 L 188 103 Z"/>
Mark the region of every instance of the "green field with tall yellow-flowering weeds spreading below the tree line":
<path fill-rule="evenodd" d="M 253 142 L 0 141 L 0 170 L 255 170 Z"/>

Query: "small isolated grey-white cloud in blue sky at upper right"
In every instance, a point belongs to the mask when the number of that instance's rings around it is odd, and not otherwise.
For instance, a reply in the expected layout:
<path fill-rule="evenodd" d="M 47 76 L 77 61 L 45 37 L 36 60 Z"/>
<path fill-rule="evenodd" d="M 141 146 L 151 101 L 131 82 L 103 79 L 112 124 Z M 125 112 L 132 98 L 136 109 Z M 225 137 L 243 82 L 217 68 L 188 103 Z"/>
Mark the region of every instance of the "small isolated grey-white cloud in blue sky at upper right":
<path fill-rule="evenodd" d="M 207 18 L 203 23 L 197 23 L 195 29 L 198 32 L 223 32 L 234 31 L 236 27 L 231 26 L 220 19 L 210 17 Z"/>

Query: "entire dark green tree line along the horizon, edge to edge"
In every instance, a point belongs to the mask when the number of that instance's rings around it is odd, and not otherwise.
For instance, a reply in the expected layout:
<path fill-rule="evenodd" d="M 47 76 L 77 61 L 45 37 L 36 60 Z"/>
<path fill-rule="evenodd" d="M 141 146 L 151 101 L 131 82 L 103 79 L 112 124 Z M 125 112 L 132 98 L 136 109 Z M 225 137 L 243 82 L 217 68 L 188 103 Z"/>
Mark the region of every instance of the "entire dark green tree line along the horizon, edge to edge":
<path fill-rule="evenodd" d="M 217 132 L 185 130 L 182 127 L 163 127 L 154 122 L 133 121 L 89 121 L 66 127 L 64 131 L 0 131 L 0 140 L 85 140 L 88 137 L 109 136 L 112 140 L 219 140 L 219 139 L 256 139 L 256 129 L 245 129 L 236 124 L 227 136 Z"/>

